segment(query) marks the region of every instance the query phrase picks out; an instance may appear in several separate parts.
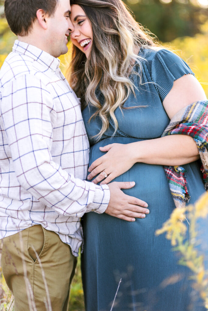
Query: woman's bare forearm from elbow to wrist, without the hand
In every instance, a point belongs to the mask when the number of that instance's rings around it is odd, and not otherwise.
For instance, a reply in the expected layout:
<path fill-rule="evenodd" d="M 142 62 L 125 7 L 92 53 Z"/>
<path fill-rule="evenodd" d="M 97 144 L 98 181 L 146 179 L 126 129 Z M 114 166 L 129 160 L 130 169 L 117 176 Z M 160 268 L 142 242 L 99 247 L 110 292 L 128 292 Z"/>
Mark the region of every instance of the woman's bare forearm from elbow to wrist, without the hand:
<path fill-rule="evenodd" d="M 183 165 L 199 159 L 196 142 L 187 135 L 169 135 L 128 144 L 134 163 Z"/>

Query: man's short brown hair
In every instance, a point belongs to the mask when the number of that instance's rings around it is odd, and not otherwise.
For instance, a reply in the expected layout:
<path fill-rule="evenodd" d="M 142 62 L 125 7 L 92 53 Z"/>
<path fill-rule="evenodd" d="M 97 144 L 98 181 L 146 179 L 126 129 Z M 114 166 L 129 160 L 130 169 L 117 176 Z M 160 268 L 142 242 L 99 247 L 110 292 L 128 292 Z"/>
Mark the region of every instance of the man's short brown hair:
<path fill-rule="evenodd" d="M 4 12 L 12 32 L 25 36 L 37 18 L 37 10 L 42 9 L 51 16 L 57 4 L 58 0 L 5 0 Z"/>

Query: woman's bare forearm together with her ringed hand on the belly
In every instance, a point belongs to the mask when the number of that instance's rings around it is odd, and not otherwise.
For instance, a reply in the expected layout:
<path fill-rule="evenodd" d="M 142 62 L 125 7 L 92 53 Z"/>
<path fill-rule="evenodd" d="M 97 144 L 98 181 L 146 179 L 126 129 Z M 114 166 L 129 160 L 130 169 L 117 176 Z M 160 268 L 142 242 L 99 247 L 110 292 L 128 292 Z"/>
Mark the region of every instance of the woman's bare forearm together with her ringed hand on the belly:
<path fill-rule="evenodd" d="M 89 167 L 88 179 L 98 175 L 93 183 L 109 183 L 128 171 L 135 163 L 177 166 L 199 159 L 198 148 L 193 138 L 187 135 L 169 135 L 130 144 L 109 144 L 99 148 L 106 152 Z"/>

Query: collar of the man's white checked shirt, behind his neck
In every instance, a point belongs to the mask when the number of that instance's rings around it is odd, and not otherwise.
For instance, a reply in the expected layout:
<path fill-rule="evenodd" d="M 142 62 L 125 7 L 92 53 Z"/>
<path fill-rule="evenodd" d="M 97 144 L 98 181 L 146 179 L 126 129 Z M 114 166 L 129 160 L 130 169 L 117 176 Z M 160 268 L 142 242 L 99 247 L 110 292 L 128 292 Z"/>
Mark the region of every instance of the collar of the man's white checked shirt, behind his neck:
<path fill-rule="evenodd" d="M 42 51 L 34 45 L 19 40 L 15 40 L 12 51 L 27 55 L 40 63 L 42 66 L 47 68 L 50 67 L 53 71 L 56 71 L 60 65 L 60 60 L 58 58 L 53 57 L 49 53 Z"/>

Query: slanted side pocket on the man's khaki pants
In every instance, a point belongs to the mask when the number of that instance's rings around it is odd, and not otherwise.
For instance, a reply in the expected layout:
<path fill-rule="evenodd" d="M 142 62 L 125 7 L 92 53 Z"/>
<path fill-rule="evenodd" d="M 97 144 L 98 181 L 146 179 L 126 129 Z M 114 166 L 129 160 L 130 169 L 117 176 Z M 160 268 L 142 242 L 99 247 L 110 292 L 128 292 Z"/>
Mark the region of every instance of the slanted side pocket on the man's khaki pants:
<path fill-rule="evenodd" d="M 27 253 L 35 263 L 45 244 L 45 235 L 41 225 L 34 225 L 28 230 Z"/>

